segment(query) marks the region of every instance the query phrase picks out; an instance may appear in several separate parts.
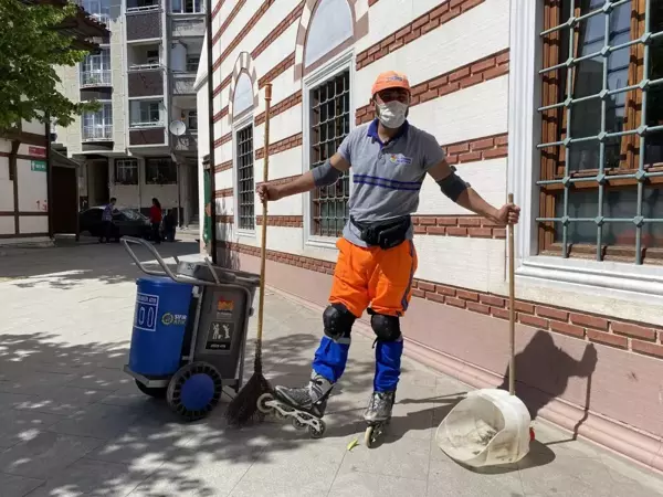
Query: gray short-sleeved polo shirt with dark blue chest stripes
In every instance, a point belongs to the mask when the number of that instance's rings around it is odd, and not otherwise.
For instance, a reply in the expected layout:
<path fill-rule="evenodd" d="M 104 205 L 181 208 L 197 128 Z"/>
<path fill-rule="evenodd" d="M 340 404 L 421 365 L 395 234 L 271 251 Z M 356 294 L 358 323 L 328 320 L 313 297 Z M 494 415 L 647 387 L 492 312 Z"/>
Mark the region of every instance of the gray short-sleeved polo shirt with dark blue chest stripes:
<path fill-rule="evenodd" d="M 408 121 L 383 144 L 377 119 L 350 131 L 338 154 L 351 166 L 350 215 L 360 223 L 382 223 L 417 212 L 428 170 L 444 159 L 435 137 Z M 355 245 L 367 246 L 350 221 L 343 236 Z M 408 240 L 412 236 L 410 228 Z"/>

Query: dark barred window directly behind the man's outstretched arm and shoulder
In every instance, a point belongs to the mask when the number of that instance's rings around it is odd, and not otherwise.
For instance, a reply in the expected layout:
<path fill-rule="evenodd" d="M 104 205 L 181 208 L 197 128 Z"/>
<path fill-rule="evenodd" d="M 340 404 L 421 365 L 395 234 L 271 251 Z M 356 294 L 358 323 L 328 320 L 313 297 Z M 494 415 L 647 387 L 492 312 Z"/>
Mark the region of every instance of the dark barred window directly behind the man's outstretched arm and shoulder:
<path fill-rule="evenodd" d="M 325 163 L 350 133 L 350 72 L 327 80 L 311 91 L 311 169 Z M 349 219 L 349 175 L 312 195 L 312 234 L 340 236 Z"/>

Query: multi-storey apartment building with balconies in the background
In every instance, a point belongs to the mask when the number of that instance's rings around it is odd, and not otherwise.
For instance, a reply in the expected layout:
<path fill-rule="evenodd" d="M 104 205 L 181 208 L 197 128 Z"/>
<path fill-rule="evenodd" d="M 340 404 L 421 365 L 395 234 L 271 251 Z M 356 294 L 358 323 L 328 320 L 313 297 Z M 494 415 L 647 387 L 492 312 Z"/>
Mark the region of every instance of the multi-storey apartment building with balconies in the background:
<path fill-rule="evenodd" d="M 198 118 L 193 82 L 202 50 L 201 0 L 81 0 L 110 35 L 78 67 L 60 70 L 72 99 L 101 108 L 53 147 L 81 163 L 81 208 L 110 197 L 147 212 L 151 199 L 180 224 L 198 218 Z"/>

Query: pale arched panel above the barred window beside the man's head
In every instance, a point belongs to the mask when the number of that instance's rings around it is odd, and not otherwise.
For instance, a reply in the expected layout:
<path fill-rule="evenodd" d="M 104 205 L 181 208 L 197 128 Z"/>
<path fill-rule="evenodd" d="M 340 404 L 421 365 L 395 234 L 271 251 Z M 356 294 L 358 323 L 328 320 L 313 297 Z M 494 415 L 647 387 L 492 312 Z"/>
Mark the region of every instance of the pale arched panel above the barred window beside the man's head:
<path fill-rule="evenodd" d="M 308 25 L 304 67 L 352 41 L 355 21 L 347 0 L 320 0 Z"/>

